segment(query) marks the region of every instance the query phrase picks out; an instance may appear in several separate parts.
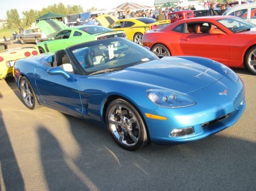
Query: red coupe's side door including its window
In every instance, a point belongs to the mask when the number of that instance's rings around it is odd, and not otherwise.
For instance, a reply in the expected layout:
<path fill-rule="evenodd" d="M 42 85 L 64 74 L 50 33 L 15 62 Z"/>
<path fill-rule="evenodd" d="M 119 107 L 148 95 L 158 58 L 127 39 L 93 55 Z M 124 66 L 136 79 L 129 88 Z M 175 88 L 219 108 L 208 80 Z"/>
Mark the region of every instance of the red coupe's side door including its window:
<path fill-rule="evenodd" d="M 201 32 L 196 32 L 195 27 L 199 25 Z M 181 33 L 179 39 L 180 49 L 184 55 L 200 56 L 221 63 L 228 63 L 229 60 L 229 36 L 226 34 L 210 34 L 209 28 L 212 24 L 187 23 L 184 27 L 191 27 L 191 32 Z"/>

